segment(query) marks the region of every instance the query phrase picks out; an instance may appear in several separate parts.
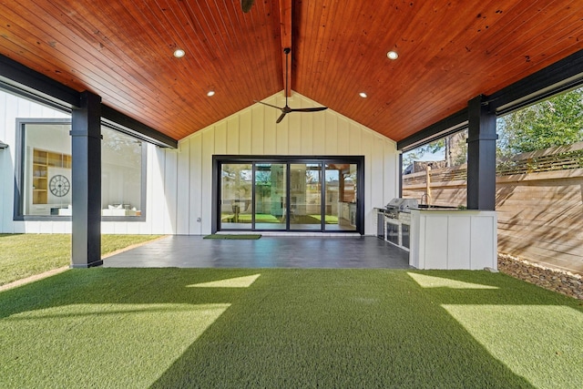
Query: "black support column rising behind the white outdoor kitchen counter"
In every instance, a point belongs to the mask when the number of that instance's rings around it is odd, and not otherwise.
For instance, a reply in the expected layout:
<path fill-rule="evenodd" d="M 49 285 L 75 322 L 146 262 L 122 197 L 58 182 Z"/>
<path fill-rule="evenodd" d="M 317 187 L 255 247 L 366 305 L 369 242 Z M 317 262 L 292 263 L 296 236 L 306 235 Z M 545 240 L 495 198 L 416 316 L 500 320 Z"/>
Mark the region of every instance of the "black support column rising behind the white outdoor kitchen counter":
<path fill-rule="evenodd" d="M 467 209 L 496 209 L 496 112 L 483 95 L 468 102 Z"/>

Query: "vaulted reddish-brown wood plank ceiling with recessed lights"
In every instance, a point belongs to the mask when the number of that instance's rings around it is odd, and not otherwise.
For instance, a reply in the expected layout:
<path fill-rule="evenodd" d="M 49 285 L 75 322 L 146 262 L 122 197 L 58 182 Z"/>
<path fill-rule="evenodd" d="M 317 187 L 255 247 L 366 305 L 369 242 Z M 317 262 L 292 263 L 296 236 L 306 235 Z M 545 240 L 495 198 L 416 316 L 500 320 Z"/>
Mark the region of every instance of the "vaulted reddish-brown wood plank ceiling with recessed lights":
<path fill-rule="evenodd" d="M 176 139 L 282 91 L 283 46 L 293 91 L 401 140 L 580 50 L 583 2 L 0 2 L 0 54 Z"/>

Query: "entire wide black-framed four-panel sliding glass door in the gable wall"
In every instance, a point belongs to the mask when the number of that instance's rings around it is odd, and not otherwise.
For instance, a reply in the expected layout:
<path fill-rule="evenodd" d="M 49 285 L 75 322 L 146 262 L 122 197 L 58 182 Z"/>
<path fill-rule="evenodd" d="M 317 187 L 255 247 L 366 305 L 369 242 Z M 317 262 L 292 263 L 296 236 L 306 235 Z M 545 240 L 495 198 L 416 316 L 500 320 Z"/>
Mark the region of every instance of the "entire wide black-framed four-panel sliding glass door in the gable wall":
<path fill-rule="evenodd" d="M 228 158 L 225 158 L 228 159 Z M 361 231 L 363 159 L 215 161 L 213 230 Z M 362 190 L 361 190 L 362 192 Z"/>

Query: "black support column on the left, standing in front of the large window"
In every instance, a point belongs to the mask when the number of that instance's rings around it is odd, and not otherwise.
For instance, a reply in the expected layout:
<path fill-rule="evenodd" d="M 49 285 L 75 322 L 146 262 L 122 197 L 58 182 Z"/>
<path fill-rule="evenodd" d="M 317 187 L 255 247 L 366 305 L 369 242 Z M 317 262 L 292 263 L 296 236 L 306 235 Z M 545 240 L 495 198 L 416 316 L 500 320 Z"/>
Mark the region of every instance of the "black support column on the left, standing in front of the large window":
<path fill-rule="evenodd" d="M 74 268 L 88 268 L 101 261 L 101 97 L 81 94 L 72 117 L 72 190 Z"/>

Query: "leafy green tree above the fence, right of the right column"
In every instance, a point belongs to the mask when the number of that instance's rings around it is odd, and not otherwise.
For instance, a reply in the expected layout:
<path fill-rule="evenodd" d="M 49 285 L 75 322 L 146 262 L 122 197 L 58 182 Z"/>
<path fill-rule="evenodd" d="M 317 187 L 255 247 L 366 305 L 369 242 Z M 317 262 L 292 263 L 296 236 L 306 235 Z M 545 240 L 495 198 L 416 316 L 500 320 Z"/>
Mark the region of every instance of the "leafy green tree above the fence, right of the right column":
<path fill-rule="evenodd" d="M 583 88 L 499 118 L 497 132 L 503 157 L 583 141 Z"/>

